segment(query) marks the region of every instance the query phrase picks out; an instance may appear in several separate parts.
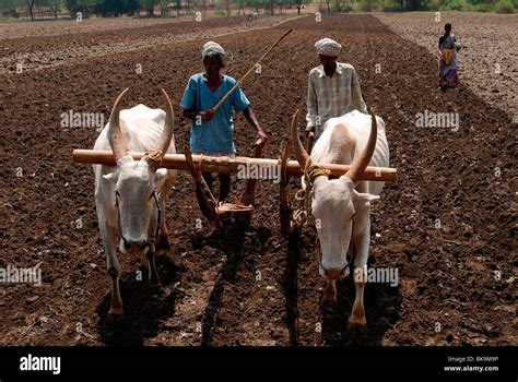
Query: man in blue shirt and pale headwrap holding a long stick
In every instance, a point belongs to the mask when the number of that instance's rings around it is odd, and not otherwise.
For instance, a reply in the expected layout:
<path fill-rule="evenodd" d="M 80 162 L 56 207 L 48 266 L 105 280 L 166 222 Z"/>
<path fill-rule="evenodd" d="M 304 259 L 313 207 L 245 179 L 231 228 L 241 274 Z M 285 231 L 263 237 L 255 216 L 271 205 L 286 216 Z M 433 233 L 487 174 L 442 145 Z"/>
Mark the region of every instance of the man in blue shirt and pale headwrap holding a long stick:
<path fill-rule="evenodd" d="M 267 134 L 262 131 L 256 116 L 251 111 L 250 102 L 238 87 L 214 112 L 212 108 L 236 84 L 236 80 L 221 73 L 232 53 L 219 44 L 209 41 L 201 53 L 205 73 L 197 73 L 189 79 L 181 108 L 185 118 L 191 122 L 190 151 L 192 154 L 208 156 L 236 156 L 234 145 L 234 122 L 232 109 L 242 112 L 248 123 L 257 129 L 258 143 L 262 146 Z M 203 178 L 212 190 L 211 172 L 202 172 Z M 223 202 L 231 189 L 229 174 L 220 174 L 219 201 Z"/>

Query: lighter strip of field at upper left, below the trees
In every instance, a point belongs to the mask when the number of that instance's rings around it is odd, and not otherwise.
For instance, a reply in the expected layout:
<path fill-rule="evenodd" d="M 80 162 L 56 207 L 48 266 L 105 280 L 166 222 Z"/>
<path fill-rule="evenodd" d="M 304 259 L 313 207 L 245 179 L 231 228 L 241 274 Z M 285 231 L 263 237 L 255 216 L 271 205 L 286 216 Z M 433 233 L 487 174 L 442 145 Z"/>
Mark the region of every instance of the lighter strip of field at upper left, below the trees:
<path fill-rule="evenodd" d="M 216 36 L 271 27 L 296 15 L 187 19 L 89 19 L 75 21 L 0 23 L 0 73 L 42 69 L 87 57 L 132 51 L 164 44 L 212 39 Z M 16 35 L 11 27 L 14 25 Z M 15 37 L 13 37 L 15 36 Z M 24 37 L 21 37 L 24 36 Z"/>

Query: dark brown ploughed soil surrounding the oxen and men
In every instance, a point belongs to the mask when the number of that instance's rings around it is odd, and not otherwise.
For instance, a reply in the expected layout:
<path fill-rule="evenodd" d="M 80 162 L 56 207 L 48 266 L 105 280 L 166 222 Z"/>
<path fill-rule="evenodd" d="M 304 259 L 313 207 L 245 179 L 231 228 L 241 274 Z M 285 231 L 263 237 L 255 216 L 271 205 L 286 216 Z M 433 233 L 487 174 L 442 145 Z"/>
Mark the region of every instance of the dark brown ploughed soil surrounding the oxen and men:
<path fill-rule="evenodd" d="M 238 77 L 287 28 L 294 31 L 263 62 L 262 73 L 243 86 L 270 135 L 264 156 L 280 157 L 291 116 L 305 102 L 307 73 L 318 64 L 313 45 L 329 36 L 344 45 L 342 60 L 357 69 L 367 105 L 386 121 L 391 166 L 399 170 L 398 182 L 387 184 L 374 206 L 370 246 L 372 266 L 398 268 L 399 283 L 367 285 L 368 334 L 361 343 L 517 345 L 516 124 L 506 108 L 463 80 L 458 88 L 439 92 L 433 55 L 373 15 L 323 15 L 321 22 L 307 16 L 237 33 L 243 23 L 219 19 L 123 28 L 95 23 L 93 29 L 43 36 L 36 29 L 24 37 L 5 36 L 3 29 L 0 267 L 39 265 L 43 285 L 0 287 L 0 345 L 353 342 L 346 319 L 354 285 L 351 278 L 341 282 L 338 306 L 320 309 L 318 239 L 308 232 L 289 246 L 281 237 L 278 186 L 259 184 L 251 228 L 243 237 L 200 240 L 196 219 L 201 214 L 186 174 L 178 177 L 166 213 L 173 247 L 160 259 L 165 290 L 154 294 L 145 277 L 136 279 L 137 271 L 146 274 L 139 258 L 120 255 L 125 320 L 114 327 L 107 320 L 109 277 L 92 167 L 71 163 L 72 150 L 92 147 L 98 132 L 60 123 L 69 110 L 101 111 L 107 120 L 125 87 L 131 88 L 126 106 L 158 107 L 164 87 L 178 110 L 187 80 L 202 70 L 199 51 L 208 38 L 234 52 L 227 74 Z M 502 33 L 516 32 L 498 17 L 487 16 L 487 23 Z M 469 55 L 474 45 L 469 32 L 456 19 L 454 25 Z M 222 32 L 232 34 L 213 37 Z M 438 32 L 422 38 L 432 40 Z M 504 36 L 487 39 L 501 46 L 507 44 Z M 162 43 L 150 43 L 155 38 Z M 509 64 L 517 46 L 506 47 Z M 59 60 L 60 55 L 69 56 Z M 21 57 L 23 70 L 16 73 L 13 65 Z M 498 82 L 498 94 L 516 87 L 516 72 L 502 62 L 504 77 L 510 79 Z M 486 84 L 493 84 L 493 63 L 487 61 L 480 74 L 485 73 Z M 459 129 L 416 127 L 416 116 L 425 110 L 458 114 Z M 187 127 L 177 119 L 180 152 Z M 239 116 L 238 155 L 250 154 L 254 139 Z M 242 187 L 237 182 L 234 192 Z M 209 229 L 205 224 L 201 231 Z"/>

